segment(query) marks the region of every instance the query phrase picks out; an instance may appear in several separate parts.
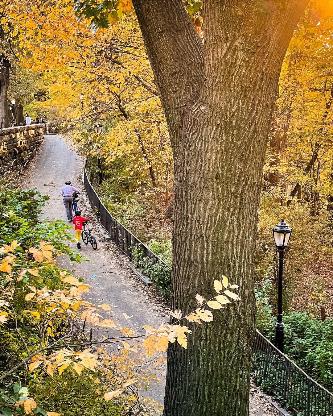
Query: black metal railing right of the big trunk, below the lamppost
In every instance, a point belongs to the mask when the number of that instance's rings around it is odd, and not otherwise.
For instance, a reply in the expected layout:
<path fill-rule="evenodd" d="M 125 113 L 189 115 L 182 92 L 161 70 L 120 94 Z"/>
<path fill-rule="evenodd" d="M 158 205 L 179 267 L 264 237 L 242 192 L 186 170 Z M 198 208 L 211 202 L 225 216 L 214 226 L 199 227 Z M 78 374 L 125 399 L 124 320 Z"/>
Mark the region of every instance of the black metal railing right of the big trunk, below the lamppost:
<path fill-rule="evenodd" d="M 252 378 L 298 416 L 332 416 L 333 394 L 311 379 L 259 331 L 252 358 Z"/>

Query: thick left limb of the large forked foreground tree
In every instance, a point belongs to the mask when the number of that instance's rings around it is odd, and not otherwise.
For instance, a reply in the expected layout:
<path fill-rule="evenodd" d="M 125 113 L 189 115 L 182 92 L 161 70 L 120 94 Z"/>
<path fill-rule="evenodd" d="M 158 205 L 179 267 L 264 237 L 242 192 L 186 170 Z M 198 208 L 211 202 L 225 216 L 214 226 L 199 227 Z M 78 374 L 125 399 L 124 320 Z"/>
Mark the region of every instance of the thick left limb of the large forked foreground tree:
<path fill-rule="evenodd" d="M 133 0 L 155 83 L 177 153 L 180 106 L 191 105 L 202 88 L 204 47 L 182 0 Z"/>

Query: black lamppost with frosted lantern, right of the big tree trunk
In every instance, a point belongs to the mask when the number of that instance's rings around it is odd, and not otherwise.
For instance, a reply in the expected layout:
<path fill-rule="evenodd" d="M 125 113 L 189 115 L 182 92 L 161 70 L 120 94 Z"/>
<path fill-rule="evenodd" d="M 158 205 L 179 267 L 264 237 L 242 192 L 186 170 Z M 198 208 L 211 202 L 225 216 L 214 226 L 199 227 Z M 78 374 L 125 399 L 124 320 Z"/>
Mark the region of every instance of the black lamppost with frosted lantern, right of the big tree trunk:
<path fill-rule="evenodd" d="M 281 352 L 284 349 L 284 323 L 282 322 L 283 256 L 284 250 L 289 243 L 291 231 L 291 228 L 284 220 L 281 220 L 273 228 L 273 238 L 279 253 L 278 313 L 275 322 L 275 345 Z"/>

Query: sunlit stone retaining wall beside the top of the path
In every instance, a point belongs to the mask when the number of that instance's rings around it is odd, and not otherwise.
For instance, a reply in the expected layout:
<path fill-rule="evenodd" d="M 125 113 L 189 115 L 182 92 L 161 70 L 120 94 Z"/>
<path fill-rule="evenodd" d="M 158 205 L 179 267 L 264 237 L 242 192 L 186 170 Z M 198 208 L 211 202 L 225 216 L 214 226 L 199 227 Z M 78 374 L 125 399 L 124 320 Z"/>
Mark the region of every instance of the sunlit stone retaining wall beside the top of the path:
<path fill-rule="evenodd" d="M 22 170 L 35 156 L 46 130 L 45 124 L 0 129 L 0 176 Z"/>

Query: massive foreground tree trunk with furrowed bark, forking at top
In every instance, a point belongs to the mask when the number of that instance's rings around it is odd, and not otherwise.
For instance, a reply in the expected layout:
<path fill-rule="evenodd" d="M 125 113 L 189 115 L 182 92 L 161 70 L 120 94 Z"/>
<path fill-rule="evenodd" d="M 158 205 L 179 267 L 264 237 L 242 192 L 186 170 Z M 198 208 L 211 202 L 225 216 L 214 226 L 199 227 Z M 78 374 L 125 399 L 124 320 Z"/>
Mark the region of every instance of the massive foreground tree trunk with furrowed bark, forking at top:
<path fill-rule="evenodd" d="M 186 314 L 197 292 L 214 296 L 222 274 L 242 298 L 212 322 L 192 325 L 187 349 L 170 344 L 164 416 L 245 416 L 264 154 L 282 60 L 305 1 L 204 1 L 202 74 L 181 0 L 133 3 L 175 151 L 172 309 Z M 168 69 L 182 64 L 190 74 L 173 79 Z M 200 78 L 192 82 L 194 69 Z"/>

